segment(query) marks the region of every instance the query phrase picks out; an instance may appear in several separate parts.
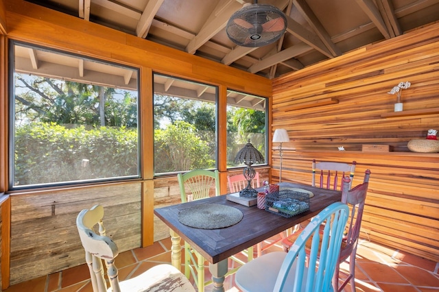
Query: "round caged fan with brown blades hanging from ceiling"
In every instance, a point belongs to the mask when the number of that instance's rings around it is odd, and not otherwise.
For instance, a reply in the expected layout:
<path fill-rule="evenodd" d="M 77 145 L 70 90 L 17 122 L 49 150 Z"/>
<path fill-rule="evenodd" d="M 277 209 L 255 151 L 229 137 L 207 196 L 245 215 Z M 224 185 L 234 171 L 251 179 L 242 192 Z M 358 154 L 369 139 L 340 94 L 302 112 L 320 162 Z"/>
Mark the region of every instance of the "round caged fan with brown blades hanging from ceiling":
<path fill-rule="evenodd" d="M 228 38 L 242 47 L 262 47 L 275 42 L 287 29 L 287 17 L 273 5 L 246 4 L 227 22 Z"/>

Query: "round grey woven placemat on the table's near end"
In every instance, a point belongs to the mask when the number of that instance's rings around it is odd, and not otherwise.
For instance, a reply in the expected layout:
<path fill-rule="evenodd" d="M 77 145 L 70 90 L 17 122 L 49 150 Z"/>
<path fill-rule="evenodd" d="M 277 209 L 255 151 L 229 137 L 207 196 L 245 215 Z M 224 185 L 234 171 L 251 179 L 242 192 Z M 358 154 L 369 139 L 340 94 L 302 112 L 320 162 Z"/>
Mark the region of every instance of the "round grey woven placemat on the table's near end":
<path fill-rule="evenodd" d="M 237 208 L 219 204 L 199 204 L 178 213 L 180 223 L 200 229 L 233 226 L 241 221 L 242 217 L 242 212 Z"/>

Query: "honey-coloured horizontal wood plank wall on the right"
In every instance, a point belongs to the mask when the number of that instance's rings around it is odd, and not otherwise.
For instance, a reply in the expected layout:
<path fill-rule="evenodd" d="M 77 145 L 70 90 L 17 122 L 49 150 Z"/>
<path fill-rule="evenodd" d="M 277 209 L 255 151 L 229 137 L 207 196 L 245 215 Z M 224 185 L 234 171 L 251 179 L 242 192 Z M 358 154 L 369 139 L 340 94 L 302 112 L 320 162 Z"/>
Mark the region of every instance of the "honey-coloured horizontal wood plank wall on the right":
<path fill-rule="evenodd" d="M 436 23 L 278 77 L 272 95 L 272 131 L 285 128 L 292 139 L 283 144 L 283 180 L 311 182 L 313 158 L 357 161 L 354 186 L 372 171 L 361 235 L 436 262 L 439 154 L 411 152 L 407 142 L 439 130 L 438 48 Z M 406 81 L 403 113 L 394 116 L 388 91 Z M 392 151 L 363 152 L 364 144 Z M 276 180 L 278 151 L 272 157 Z"/>

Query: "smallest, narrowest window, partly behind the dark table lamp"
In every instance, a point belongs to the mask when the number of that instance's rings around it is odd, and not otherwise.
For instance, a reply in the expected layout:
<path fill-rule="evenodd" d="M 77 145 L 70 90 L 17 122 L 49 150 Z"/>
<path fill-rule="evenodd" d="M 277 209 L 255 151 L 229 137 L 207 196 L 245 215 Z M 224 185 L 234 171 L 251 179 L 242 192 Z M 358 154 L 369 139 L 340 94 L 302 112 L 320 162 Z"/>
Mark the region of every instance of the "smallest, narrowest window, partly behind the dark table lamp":
<path fill-rule="evenodd" d="M 237 167 L 237 152 L 250 141 L 267 161 L 267 99 L 227 91 L 227 166 Z"/>

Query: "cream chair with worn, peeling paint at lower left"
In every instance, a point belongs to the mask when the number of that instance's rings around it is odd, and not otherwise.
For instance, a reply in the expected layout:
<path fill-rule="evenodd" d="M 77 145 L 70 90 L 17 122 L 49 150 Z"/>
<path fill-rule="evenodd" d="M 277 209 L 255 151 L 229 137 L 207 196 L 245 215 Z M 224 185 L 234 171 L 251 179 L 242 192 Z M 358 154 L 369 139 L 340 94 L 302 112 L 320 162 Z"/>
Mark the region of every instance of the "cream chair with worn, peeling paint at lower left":
<path fill-rule="evenodd" d="M 115 257 L 119 254 L 117 245 L 110 237 L 105 236 L 102 223 L 104 208 L 95 205 L 90 210 L 84 209 L 76 218 L 76 226 L 80 234 L 85 259 L 90 271 L 93 292 L 147 292 L 147 291 L 193 291 L 195 288 L 185 275 L 175 267 L 167 264 L 156 265 L 141 275 L 119 282 Z M 95 228 L 99 234 L 95 233 Z M 104 260 L 110 288 L 107 290 L 104 278 Z"/>

